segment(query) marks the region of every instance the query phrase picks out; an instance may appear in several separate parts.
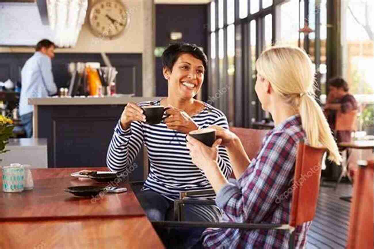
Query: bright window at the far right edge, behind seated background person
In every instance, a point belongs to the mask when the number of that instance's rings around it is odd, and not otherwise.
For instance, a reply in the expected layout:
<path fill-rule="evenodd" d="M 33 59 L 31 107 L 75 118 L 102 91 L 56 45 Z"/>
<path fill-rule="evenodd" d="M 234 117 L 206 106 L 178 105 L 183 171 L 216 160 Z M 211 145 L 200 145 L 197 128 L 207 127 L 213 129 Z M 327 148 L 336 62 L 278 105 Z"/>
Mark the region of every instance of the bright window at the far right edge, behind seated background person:
<path fill-rule="evenodd" d="M 342 76 L 359 102 L 359 130 L 373 134 L 373 10 L 372 0 L 342 1 Z"/>

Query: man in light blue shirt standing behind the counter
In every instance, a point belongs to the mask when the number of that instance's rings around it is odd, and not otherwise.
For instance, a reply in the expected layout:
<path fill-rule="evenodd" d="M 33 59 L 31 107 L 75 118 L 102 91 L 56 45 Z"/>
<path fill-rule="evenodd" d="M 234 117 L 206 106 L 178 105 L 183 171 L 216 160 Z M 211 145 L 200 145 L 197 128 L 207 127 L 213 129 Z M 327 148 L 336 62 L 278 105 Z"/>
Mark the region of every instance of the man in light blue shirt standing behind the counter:
<path fill-rule="evenodd" d="M 19 115 L 26 136 L 33 135 L 33 106 L 28 105 L 28 98 L 43 98 L 57 92 L 53 82 L 52 61 L 55 57 L 55 44 L 44 39 L 36 45 L 36 52 L 22 68 L 22 88 L 19 98 Z"/>

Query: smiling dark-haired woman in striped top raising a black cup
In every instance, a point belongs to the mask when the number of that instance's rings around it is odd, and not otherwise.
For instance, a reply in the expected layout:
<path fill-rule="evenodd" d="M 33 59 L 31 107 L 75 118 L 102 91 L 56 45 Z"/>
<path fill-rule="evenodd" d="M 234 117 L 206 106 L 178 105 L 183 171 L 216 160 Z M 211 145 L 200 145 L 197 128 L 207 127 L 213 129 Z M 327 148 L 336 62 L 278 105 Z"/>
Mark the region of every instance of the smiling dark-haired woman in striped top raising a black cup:
<path fill-rule="evenodd" d="M 204 81 L 207 70 L 205 53 L 195 44 L 171 44 L 162 54 L 163 76 L 168 84 L 168 96 L 156 101 L 129 102 L 114 129 L 108 153 L 107 166 L 121 172 L 132 166 L 142 145 L 148 152 L 150 168 L 144 187 L 137 193 L 138 201 L 151 221 L 164 221 L 173 213 L 174 200 L 180 192 L 212 190 L 203 171 L 191 162 L 186 147 L 186 134 L 192 130 L 217 125 L 229 129 L 224 113 L 205 102 L 194 99 Z M 170 107 L 170 116 L 162 123 L 145 123 L 142 106 Z M 226 148 L 220 147 L 218 165 L 224 176 L 232 173 Z M 215 194 L 200 196 L 214 200 Z M 215 206 L 204 209 L 188 205 L 184 220 L 218 221 L 221 212 Z M 190 248 L 196 243 L 203 228 L 186 230 L 175 238 L 166 231 L 157 231 L 167 248 Z M 179 241 L 178 241 L 179 240 Z"/>

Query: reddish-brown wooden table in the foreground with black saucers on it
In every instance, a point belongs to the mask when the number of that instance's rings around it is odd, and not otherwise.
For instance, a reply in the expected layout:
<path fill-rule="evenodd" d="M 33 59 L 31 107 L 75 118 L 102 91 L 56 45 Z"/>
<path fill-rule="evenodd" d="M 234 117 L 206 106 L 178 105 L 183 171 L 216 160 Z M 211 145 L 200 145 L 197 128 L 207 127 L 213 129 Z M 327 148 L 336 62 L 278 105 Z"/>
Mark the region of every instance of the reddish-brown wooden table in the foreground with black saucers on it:
<path fill-rule="evenodd" d="M 96 202 L 63 191 L 107 185 L 70 176 L 82 169 L 32 169 L 33 190 L 1 191 L 0 249 L 165 248 L 128 184 L 120 183 L 128 192 L 107 193 Z"/>

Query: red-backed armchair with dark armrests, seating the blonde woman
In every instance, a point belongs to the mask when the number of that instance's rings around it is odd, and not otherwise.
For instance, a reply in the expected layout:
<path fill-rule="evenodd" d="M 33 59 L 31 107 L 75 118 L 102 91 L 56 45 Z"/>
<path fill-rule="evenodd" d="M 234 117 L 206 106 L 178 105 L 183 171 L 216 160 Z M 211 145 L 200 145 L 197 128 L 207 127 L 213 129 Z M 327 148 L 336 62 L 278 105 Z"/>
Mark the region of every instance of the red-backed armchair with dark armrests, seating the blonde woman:
<path fill-rule="evenodd" d="M 251 224 L 234 222 L 188 222 L 188 221 L 153 221 L 156 227 L 219 227 L 239 228 L 246 230 L 253 229 L 280 229 L 286 230 L 290 235 L 289 248 L 294 248 L 294 228 L 304 222 L 312 221 L 317 207 L 319 181 L 321 178 L 322 156 L 325 148 L 310 147 L 300 141 L 297 149 L 294 174 L 294 188 L 292 193 L 291 213 L 289 224 Z M 307 176 L 307 180 L 305 180 Z M 301 179 L 304 179 L 301 182 Z M 177 218 L 184 205 L 212 205 L 212 201 L 206 200 L 178 200 L 179 207 L 175 205 Z M 214 204 L 214 202 L 213 202 Z"/>

